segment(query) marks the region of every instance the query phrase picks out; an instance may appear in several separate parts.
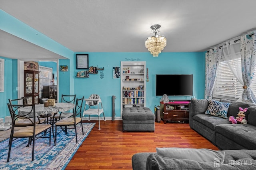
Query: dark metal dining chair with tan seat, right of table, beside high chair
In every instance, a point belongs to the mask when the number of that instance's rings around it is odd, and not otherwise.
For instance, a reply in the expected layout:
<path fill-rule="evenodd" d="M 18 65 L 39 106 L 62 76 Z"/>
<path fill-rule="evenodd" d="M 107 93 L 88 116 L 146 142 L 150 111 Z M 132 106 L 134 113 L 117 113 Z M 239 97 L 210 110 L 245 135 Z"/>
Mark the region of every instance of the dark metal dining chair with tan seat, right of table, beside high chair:
<path fill-rule="evenodd" d="M 74 114 L 73 117 L 64 117 L 62 119 L 60 119 L 59 121 L 56 121 L 55 125 L 55 141 L 57 142 L 57 130 L 61 129 L 64 130 L 66 132 L 67 129 L 75 129 L 75 133 L 76 133 L 76 143 L 77 143 L 77 130 L 76 130 L 76 126 L 78 123 L 81 123 L 81 127 L 82 127 L 82 133 L 84 135 L 84 129 L 83 129 L 83 124 L 82 124 L 82 104 L 84 101 L 84 97 L 80 98 L 80 99 L 76 99 L 76 106 L 74 109 Z M 56 115 L 56 113 L 54 114 L 54 116 Z M 63 129 L 63 127 L 65 129 Z M 52 129 L 53 130 L 53 129 Z"/>

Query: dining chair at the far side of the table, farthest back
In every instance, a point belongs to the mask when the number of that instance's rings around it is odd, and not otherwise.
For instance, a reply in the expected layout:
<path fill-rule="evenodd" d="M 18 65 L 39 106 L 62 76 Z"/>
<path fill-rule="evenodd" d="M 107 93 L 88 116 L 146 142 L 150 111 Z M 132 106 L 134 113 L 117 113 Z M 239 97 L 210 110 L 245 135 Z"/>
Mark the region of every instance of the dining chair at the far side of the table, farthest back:
<path fill-rule="evenodd" d="M 63 95 L 63 94 L 61 95 L 61 102 L 75 103 L 75 101 L 76 101 L 76 95 Z M 54 119 L 60 120 L 60 119 L 63 119 L 65 117 L 72 117 L 74 115 L 74 108 L 72 109 L 72 112 L 70 112 L 70 111 L 57 113 L 54 116 Z M 51 119 L 52 118 L 53 118 L 53 115 L 52 115 Z"/>

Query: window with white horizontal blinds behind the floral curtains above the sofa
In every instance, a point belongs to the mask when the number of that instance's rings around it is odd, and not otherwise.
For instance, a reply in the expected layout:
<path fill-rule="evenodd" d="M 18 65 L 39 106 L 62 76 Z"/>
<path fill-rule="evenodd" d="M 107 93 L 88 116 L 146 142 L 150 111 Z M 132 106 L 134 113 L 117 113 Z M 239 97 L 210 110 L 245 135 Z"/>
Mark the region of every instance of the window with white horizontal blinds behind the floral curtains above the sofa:
<path fill-rule="evenodd" d="M 241 59 L 234 59 L 240 61 Z M 256 71 L 256 70 L 255 70 Z M 251 89 L 256 94 L 255 76 L 251 84 Z M 237 100 L 242 95 L 242 84 L 236 79 L 227 63 L 221 58 L 218 73 L 215 81 L 213 97 L 222 99 Z"/>

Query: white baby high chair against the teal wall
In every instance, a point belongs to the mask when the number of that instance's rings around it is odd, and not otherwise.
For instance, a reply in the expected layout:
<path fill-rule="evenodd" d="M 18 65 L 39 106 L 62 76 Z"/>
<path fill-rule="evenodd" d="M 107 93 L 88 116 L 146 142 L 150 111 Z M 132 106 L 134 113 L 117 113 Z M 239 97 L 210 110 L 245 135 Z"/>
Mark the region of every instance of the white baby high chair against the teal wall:
<path fill-rule="evenodd" d="M 84 115 L 88 115 L 88 117 L 89 117 L 88 121 L 90 121 L 90 115 L 97 115 L 98 121 L 99 121 L 99 130 L 100 130 L 100 115 L 101 114 L 103 114 L 104 121 L 106 121 L 100 96 L 97 94 L 92 94 L 92 95 L 90 95 L 89 99 L 84 99 L 84 100 L 86 102 L 85 102 L 85 106 L 84 106 L 84 113 L 83 113 L 82 120 L 84 119 Z M 96 106 L 98 106 L 98 107 L 96 107 Z M 86 109 L 86 107 L 88 109 Z"/>

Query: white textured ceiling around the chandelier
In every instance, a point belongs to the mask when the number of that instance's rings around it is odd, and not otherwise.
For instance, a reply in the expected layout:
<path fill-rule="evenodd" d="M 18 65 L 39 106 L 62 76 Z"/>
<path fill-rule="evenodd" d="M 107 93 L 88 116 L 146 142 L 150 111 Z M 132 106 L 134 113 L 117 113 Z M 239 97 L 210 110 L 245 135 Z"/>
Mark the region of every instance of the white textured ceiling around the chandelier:
<path fill-rule="evenodd" d="M 205 51 L 256 29 L 255 6 L 256 0 L 0 0 L 3 11 L 74 52 L 146 52 L 153 24 L 167 39 L 162 52 Z M 41 51 L 62 58 L 15 36 L 6 42 L 4 34 L 0 56 L 35 59 Z M 16 47 L 24 50 L 17 55 Z"/>

